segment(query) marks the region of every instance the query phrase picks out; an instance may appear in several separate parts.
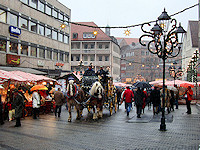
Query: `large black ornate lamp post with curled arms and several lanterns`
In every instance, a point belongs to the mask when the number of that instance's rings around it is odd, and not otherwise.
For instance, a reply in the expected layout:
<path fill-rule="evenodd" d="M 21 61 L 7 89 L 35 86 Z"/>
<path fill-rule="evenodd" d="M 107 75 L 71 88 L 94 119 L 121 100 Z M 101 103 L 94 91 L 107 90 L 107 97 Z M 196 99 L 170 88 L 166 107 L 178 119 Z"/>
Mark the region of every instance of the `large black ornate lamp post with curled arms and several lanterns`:
<path fill-rule="evenodd" d="M 145 43 L 142 42 L 143 37 L 151 38 L 151 41 L 148 42 L 147 48 L 153 53 L 157 54 L 159 58 L 163 61 L 163 107 L 162 107 L 162 118 L 160 124 L 160 131 L 166 131 L 165 124 L 165 60 L 167 58 L 176 57 L 181 50 L 183 34 L 186 31 L 183 29 L 181 25 L 177 27 L 177 21 L 175 19 L 171 19 L 171 17 L 164 11 L 158 17 L 156 24 L 151 29 L 151 31 L 146 31 L 143 29 L 144 25 L 141 26 L 141 30 L 145 33 L 139 38 L 139 42 L 141 45 L 146 46 Z M 171 28 L 169 26 L 171 25 Z M 155 47 L 155 49 L 153 49 Z M 174 49 L 178 48 L 178 51 L 174 54 Z"/>

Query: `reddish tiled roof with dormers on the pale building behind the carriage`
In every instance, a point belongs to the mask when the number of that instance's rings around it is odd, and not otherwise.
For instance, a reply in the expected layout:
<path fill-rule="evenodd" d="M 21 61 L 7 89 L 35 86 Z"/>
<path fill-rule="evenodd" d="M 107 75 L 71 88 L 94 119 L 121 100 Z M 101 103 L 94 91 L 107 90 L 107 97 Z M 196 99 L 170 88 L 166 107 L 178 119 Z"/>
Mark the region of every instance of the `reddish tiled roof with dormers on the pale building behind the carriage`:
<path fill-rule="evenodd" d="M 76 22 L 76 23 L 98 27 L 94 22 Z M 95 38 L 83 38 L 84 32 L 94 32 L 94 31 L 98 32 Z M 78 38 L 73 39 L 73 33 L 78 33 Z M 100 28 L 92 28 L 92 27 L 75 25 L 75 24 L 71 25 L 71 37 L 72 37 L 71 39 L 72 41 L 102 41 L 102 40 L 111 41 L 112 40 Z"/>

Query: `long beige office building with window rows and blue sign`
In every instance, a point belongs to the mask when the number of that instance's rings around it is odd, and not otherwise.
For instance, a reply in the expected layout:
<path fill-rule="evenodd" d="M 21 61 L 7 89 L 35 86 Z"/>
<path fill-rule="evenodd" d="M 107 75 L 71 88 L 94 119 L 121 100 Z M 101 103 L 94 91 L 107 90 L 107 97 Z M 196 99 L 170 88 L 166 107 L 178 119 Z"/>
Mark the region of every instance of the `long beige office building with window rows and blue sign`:
<path fill-rule="evenodd" d="M 1 0 L 0 65 L 70 71 L 70 17 L 57 0 Z"/>

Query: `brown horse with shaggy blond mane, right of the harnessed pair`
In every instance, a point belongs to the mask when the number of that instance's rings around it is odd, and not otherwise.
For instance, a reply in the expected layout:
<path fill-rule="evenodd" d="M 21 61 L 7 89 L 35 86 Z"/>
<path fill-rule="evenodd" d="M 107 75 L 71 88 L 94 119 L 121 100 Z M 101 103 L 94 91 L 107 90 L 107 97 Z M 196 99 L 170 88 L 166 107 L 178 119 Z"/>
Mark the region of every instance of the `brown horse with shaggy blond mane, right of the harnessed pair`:
<path fill-rule="evenodd" d="M 104 103 L 104 89 L 100 82 L 96 81 L 90 90 L 89 106 L 93 108 L 93 119 L 102 118 L 103 116 L 103 103 Z M 96 110 L 97 109 L 97 114 Z"/>

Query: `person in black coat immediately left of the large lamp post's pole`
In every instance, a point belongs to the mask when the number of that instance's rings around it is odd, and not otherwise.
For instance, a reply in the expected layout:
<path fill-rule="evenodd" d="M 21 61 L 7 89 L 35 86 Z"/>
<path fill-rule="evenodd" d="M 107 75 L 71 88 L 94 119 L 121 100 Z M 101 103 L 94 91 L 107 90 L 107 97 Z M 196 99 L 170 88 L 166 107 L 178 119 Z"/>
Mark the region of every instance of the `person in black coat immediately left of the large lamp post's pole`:
<path fill-rule="evenodd" d="M 154 87 L 154 90 L 151 92 L 150 101 L 153 104 L 153 114 L 158 114 L 158 107 L 160 105 L 160 90 L 158 87 Z"/>

